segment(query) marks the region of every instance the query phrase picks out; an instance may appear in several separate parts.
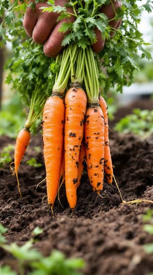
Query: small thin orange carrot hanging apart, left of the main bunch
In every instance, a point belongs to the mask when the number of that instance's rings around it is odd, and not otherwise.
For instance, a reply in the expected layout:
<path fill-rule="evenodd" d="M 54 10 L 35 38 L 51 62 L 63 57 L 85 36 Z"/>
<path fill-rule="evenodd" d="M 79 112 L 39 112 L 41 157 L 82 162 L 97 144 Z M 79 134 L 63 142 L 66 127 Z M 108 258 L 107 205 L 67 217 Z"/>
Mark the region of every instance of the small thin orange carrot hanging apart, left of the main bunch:
<path fill-rule="evenodd" d="M 20 130 L 20 132 L 17 135 L 15 151 L 14 151 L 14 166 L 15 166 L 14 171 L 17 179 L 18 191 L 21 197 L 22 195 L 21 195 L 19 180 L 18 180 L 18 168 L 29 142 L 30 142 L 30 131 L 28 128 L 24 127 L 23 129 Z"/>

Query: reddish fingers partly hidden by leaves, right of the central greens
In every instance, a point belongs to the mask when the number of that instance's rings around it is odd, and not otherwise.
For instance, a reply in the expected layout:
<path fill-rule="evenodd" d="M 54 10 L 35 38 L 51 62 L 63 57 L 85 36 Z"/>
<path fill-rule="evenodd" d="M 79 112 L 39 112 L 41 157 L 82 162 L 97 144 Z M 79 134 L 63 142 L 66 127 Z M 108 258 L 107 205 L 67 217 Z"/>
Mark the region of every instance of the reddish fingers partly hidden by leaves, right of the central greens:
<path fill-rule="evenodd" d="M 104 5 L 101 8 L 101 12 L 105 13 L 108 17 L 109 20 L 113 19 L 115 17 L 115 11 L 121 7 L 121 2 L 120 1 L 112 1 L 112 3 L 110 3 L 109 5 Z M 109 25 L 111 27 L 113 27 L 114 29 L 119 28 L 121 24 L 121 20 L 112 20 Z M 96 32 L 96 36 L 97 36 L 97 41 L 95 44 L 92 45 L 93 50 L 96 53 L 99 53 L 101 50 L 103 50 L 104 46 L 105 46 L 105 41 L 103 40 L 103 38 L 101 37 L 100 31 L 98 31 L 97 29 L 95 30 Z M 111 37 L 114 35 L 114 31 L 111 32 Z"/>

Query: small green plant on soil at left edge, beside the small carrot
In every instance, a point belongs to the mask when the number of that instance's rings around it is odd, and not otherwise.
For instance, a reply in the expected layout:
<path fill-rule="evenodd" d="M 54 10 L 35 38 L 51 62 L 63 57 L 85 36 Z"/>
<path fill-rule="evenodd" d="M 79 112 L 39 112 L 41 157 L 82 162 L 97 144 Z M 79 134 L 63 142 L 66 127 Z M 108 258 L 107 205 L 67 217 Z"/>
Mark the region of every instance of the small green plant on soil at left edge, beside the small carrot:
<path fill-rule="evenodd" d="M 12 157 L 10 153 L 14 150 L 14 145 L 9 144 L 4 147 L 0 153 L 0 167 L 3 167 L 5 164 L 10 163 L 12 161 Z M 1 231 L 1 230 L 0 230 Z"/>

